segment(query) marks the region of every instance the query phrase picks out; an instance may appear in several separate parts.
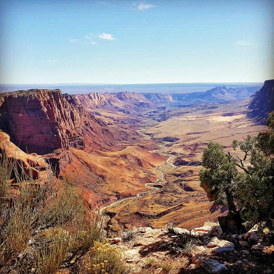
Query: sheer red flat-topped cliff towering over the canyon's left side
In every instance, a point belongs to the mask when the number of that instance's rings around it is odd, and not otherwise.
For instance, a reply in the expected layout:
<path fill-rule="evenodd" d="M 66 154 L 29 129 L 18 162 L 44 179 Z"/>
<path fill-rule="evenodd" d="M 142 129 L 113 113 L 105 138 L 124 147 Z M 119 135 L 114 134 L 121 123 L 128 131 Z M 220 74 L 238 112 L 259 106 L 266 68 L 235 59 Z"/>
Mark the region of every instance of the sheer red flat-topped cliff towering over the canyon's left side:
<path fill-rule="evenodd" d="M 0 129 L 20 150 L 44 155 L 57 173 L 71 163 L 70 147 L 96 153 L 113 149 L 114 139 L 126 138 L 123 132 L 110 130 L 103 120 L 86 111 L 77 98 L 72 98 L 73 104 L 59 89 L 3 93 Z"/>

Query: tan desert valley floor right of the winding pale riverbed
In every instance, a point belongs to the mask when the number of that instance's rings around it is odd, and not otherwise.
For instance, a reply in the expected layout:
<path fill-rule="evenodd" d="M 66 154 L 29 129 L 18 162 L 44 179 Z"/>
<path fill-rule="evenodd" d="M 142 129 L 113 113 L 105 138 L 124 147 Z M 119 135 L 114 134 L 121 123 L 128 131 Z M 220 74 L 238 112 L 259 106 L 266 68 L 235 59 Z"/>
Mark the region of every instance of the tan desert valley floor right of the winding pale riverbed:
<path fill-rule="evenodd" d="M 210 140 L 232 150 L 227 144 L 231 145 L 234 139 L 263 131 L 265 126 L 247 118 L 248 112 L 247 102 L 243 104 L 243 101 L 148 112 L 148 119 L 138 132 L 145 140 L 156 140 L 159 149 L 150 152 L 157 152 L 168 161 L 160 161 L 158 167 L 150 168 L 158 179 L 142 187 L 138 196 L 104 207 L 106 214 L 112 217 L 112 229 L 160 228 L 169 222 L 192 229 L 207 220 L 217 221 L 217 216 L 225 213 L 226 208 L 209 202 L 200 187 L 198 172 L 202 152 Z M 148 156 L 143 152 L 140 157 Z M 154 159 L 153 155 L 150 157 Z M 120 176 L 124 178 L 128 174 L 120 172 Z"/>

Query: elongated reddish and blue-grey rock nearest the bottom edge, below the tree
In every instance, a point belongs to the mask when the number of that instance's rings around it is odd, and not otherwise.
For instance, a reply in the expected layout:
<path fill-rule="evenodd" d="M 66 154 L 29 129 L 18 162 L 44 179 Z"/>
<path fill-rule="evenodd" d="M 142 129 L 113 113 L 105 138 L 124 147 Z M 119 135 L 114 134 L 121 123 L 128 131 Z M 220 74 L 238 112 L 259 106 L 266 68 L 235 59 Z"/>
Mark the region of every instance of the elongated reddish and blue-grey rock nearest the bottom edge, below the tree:
<path fill-rule="evenodd" d="M 204 268 L 212 274 L 219 274 L 227 270 L 227 267 L 224 264 L 219 263 L 216 260 L 206 259 L 201 254 L 195 254 L 194 256 L 192 256 L 192 263 L 200 265 L 200 267 Z"/>

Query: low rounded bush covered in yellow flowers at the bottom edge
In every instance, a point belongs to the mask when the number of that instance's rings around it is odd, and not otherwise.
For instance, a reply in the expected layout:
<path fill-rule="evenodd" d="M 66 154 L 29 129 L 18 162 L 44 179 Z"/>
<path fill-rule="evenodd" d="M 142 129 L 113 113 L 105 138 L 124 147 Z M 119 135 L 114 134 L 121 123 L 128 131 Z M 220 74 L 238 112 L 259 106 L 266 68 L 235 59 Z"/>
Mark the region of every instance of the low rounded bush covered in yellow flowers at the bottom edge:
<path fill-rule="evenodd" d="M 84 274 L 128 273 L 123 262 L 122 251 L 109 243 L 96 242 L 83 260 Z"/>

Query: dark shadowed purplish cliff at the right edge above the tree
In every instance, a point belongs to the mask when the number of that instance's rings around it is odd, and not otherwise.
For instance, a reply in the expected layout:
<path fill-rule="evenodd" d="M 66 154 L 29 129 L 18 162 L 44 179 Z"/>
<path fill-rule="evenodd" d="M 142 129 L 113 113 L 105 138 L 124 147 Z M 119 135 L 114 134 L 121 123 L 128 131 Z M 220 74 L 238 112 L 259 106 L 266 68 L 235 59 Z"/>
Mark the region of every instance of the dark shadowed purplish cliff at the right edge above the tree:
<path fill-rule="evenodd" d="M 274 80 L 266 80 L 263 87 L 252 96 L 249 109 L 253 109 L 249 117 L 265 124 L 268 113 L 274 110 Z"/>

